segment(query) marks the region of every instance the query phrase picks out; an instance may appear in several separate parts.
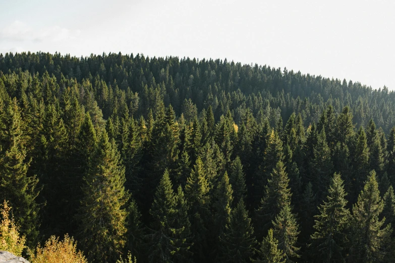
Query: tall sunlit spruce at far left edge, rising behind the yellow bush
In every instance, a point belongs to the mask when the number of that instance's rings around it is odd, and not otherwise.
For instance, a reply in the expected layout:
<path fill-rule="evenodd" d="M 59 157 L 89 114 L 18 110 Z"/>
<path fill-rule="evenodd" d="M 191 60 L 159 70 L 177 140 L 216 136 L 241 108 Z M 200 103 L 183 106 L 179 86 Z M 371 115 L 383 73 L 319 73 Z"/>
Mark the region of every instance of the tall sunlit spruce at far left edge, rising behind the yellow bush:
<path fill-rule="evenodd" d="M 34 244 L 38 236 L 39 206 L 36 202 L 39 189 L 36 176 L 29 176 L 31 160 L 26 157 L 25 135 L 17 100 L 7 107 L 5 129 L 0 131 L 5 144 L 4 154 L 0 155 L 0 198 L 14 207 L 16 223 L 22 234 L 28 238 L 28 245 Z"/>

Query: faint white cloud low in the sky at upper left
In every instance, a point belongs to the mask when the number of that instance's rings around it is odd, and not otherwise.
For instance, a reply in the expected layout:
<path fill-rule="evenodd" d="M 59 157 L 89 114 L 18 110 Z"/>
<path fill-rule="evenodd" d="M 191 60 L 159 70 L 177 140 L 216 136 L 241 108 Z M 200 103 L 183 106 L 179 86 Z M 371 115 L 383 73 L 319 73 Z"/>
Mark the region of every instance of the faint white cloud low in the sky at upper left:
<path fill-rule="evenodd" d="M 33 28 L 24 22 L 16 20 L 3 30 L 0 30 L 0 42 L 60 42 L 76 39 L 80 34 L 80 30 L 70 30 L 59 26 Z"/>

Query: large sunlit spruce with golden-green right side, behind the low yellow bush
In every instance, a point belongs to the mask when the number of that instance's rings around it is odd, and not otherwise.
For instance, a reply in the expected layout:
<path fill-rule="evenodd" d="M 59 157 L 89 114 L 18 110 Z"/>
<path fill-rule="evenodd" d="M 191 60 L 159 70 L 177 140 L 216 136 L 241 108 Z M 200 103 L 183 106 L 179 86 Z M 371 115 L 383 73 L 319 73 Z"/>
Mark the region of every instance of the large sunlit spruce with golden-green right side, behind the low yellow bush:
<path fill-rule="evenodd" d="M 101 134 L 84 178 L 83 198 L 78 218 L 80 242 L 87 258 L 100 262 L 119 258 L 126 243 L 125 168 L 114 139 Z"/>

